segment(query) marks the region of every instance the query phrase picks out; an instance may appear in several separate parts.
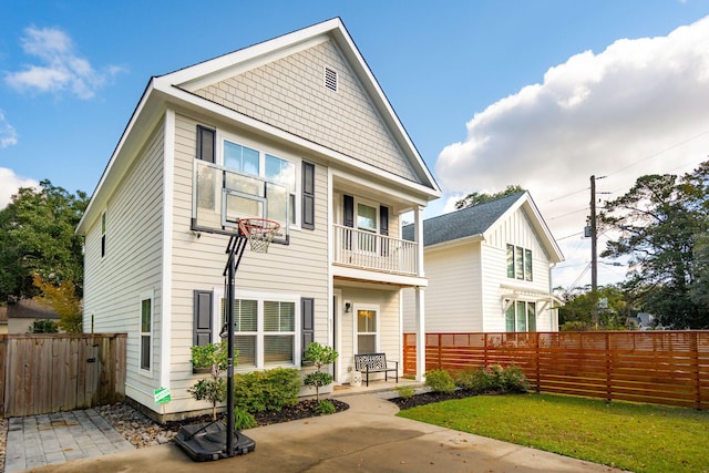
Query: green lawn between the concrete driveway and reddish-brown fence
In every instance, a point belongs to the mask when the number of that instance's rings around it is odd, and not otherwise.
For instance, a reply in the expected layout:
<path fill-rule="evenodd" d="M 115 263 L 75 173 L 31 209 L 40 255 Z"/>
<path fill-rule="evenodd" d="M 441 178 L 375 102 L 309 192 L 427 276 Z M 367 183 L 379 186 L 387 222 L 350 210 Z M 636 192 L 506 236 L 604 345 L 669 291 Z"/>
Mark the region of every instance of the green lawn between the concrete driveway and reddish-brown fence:
<path fill-rule="evenodd" d="M 479 395 L 400 417 L 637 473 L 709 472 L 709 412 L 552 394 Z"/>

